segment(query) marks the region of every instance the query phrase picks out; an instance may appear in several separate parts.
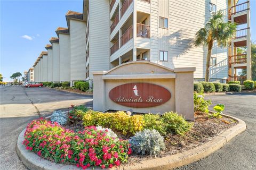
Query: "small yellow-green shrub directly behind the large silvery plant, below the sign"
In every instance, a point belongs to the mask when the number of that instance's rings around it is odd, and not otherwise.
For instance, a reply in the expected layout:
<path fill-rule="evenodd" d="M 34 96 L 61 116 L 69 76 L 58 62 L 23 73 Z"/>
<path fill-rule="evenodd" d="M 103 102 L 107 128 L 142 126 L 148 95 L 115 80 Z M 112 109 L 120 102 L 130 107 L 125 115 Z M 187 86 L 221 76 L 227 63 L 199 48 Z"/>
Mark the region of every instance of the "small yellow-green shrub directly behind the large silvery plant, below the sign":
<path fill-rule="evenodd" d="M 163 119 L 158 114 L 145 114 L 143 115 L 145 121 L 144 129 L 157 130 L 161 134 L 166 134 L 163 124 Z"/>

